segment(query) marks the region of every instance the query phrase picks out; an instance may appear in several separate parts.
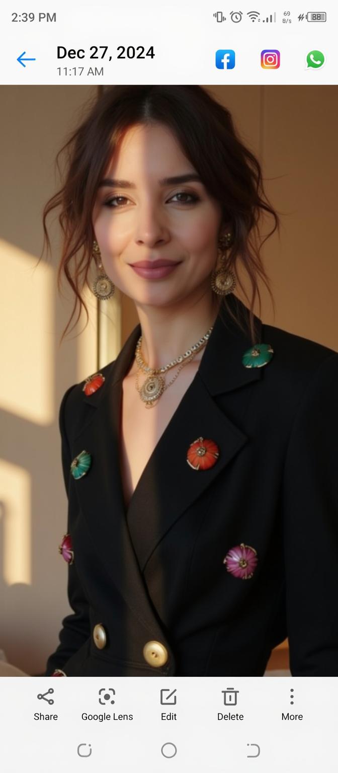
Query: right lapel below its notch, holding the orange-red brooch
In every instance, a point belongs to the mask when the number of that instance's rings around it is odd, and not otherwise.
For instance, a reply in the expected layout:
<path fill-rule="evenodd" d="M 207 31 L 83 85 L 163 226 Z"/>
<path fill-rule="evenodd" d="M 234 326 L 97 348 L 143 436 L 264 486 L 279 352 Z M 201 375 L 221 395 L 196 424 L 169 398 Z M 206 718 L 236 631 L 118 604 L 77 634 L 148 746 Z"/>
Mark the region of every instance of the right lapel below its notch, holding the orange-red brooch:
<path fill-rule="evenodd" d="M 188 465 L 188 448 L 198 438 L 218 445 L 208 470 Z M 221 411 L 198 373 L 157 443 L 130 500 L 127 522 L 140 568 L 164 534 L 201 496 L 246 443 L 246 435 Z"/>

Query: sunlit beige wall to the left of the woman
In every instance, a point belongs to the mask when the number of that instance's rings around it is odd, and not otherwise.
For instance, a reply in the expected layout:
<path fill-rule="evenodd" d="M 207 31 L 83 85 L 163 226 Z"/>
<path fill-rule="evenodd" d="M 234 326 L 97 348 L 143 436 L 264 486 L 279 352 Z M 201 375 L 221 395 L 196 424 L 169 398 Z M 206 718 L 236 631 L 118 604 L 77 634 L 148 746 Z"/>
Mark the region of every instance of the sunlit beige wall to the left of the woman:
<path fill-rule="evenodd" d="M 56 293 L 56 238 L 36 267 L 41 214 L 56 152 L 93 97 L 90 87 L 0 88 L 0 649 L 29 673 L 44 669 L 67 609 L 59 404 L 96 369 L 96 304 L 86 333 L 59 349 L 71 307 Z"/>

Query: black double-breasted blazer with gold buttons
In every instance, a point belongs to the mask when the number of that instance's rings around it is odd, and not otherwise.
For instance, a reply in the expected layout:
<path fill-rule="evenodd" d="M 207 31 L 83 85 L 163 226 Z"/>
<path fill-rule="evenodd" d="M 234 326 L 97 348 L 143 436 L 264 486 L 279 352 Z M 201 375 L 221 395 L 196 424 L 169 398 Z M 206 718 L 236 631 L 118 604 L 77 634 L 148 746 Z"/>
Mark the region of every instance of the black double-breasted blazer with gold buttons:
<path fill-rule="evenodd" d="M 228 303 L 247 313 L 235 296 Z M 100 389 L 66 391 L 73 614 L 46 676 L 260 676 L 286 636 L 293 676 L 338 676 L 338 354 L 255 318 L 274 354 L 248 369 L 250 339 L 227 316 L 127 512 L 120 399 L 140 325 L 101 370 Z M 187 463 L 200 437 L 218 446 L 209 469 Z M 92 464 L 75 480 L 70 464 L 83 450 Z M 241 543 L 257 554 L 248 579 L 224 563 Z"/>

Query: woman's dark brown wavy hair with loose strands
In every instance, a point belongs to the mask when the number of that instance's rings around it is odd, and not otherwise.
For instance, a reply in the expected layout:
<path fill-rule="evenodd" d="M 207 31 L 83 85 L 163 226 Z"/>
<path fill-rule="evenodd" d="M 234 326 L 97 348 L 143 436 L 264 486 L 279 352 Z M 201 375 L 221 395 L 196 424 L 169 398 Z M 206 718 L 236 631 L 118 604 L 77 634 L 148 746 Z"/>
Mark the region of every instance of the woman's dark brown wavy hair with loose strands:
<path fill-rule="evenodd" d="M 211 196 L 222 206 L 224 223 L 231 223 L 233 243 L 227 254 L 227 267 L 236 271 L 242 264 L 251 283 L 251 297 L 241 279 L 238 284 L 248 300 L 249 314 L 241 319 L 228 310 L 226 296 L 218 296 L 218 310 L 226 309 L 242 330 L 255 343 L 254 312 L 256 296 L 261 295 L 259 279 L 274 299 L 269 278 L 260 257 L 262 244 L 279 231 L 279 216 L 272 209 L 262 185 L 262 169 L 255 155 L 243 145 L 236 134 L 232 116 L 226 107 L 200 86 L 113 86 L 103 90 L 79 128 L 70 135 L 56 157 L 66 157 L 64 184 L 43 209 L 44 241 L 42 254 L 50 250 L 46 218 L 60 208 L 59 223 L 63 232 L 63 249 L 59 262 L 57 284 L 60 291 L 63 275 L 75 295 L 74 307 L 61 342 L 78 310 L 75 327 L 82 308 L 89 315 L 81 291 L 90 287 L 88 274 L 94 260 L 93 207 L 96 192 L 107 163 L 112 158 L 128 128 L 135 124 L 161 122 L 171 129 L 184 155 L 201 176 Z M 262 239 L 260 221 L 265 213 L 274 220 L 271 231 Z M 238 312 L 239 313 L 239 312 Z"/>

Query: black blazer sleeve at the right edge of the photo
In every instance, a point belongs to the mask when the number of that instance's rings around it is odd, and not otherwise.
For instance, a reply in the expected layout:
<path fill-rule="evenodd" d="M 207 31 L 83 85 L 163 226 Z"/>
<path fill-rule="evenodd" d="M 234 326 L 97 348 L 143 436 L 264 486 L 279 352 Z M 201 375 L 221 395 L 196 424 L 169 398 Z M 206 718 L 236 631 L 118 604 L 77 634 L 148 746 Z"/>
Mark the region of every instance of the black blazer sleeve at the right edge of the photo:
<path fill-rule="evenodd" d="M 338 676 L 336 353 L 316 369 L 300 401 L 282 502 L 290 670 L 292 676 Z"/>

